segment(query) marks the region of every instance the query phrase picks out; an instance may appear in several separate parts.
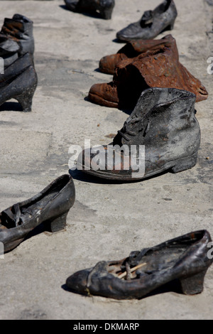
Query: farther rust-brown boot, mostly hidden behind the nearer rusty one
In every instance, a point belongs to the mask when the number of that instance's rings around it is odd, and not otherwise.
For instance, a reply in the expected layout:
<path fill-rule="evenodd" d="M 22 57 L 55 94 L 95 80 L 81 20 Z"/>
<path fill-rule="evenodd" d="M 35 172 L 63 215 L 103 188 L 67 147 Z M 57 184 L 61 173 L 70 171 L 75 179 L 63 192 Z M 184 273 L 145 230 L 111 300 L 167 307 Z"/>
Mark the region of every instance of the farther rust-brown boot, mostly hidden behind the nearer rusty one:
<path fill-rule="evenodd" d="M 141 53 L 151 50 L 160 50 L 164 46 L 170 45 L 170 35 L 161 38 L 160 40 L 139 40 L 130 41 L 126 43 L 123 48 L 121 48 L 114 55 L 105 55 L 99 61 L 99 70 L 101 72 L 114 75 L 116 65 L 118 65 L 121 60 L 128 58 L 135 58 Z"/>

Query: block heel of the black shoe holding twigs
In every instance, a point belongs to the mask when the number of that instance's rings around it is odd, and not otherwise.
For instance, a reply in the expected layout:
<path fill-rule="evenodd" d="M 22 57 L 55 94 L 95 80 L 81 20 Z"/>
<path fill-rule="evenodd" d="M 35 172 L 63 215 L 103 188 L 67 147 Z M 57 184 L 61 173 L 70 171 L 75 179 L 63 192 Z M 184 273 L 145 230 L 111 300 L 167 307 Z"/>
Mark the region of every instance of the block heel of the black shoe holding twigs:
<path fill-rule="evenodd" d="M 207 270 L 201 271 L 198 274 L 187 277 L 186 279 L 180 279 L 180 286 L 182 293 L 186 295 L 195 295 L 203 291 L 204 276 Z"/>

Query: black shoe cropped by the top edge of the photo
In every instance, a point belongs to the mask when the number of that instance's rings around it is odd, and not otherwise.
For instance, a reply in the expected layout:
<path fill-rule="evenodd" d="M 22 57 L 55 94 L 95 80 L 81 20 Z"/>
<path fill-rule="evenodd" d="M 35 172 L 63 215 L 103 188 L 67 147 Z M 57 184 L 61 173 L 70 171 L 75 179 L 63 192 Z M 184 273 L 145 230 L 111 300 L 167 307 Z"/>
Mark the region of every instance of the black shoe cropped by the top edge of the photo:
<path fill-rule="evenodd" d="M 114 9 L 114 0 L 65 0 L 67 9 L 77 13 L 91 13 L 99 12 L 100 16 L 106 20 L 111 18 Z"/>

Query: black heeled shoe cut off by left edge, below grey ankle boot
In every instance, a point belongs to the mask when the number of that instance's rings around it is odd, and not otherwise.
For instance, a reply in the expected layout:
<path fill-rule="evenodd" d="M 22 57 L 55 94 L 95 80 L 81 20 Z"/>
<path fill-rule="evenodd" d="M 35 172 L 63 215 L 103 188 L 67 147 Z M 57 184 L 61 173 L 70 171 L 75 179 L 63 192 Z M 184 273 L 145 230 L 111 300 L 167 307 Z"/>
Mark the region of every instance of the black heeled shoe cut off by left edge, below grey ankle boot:
<path fill-rule="evenodd" d="M 40 193 L 0 213 L 0 242 L 9 252 L 23 242 L 29 232 L 44 223 L 45 230 L 65 228 L 67 213 L 75 202 L 75 185 L 70 175 L 63 175 Z"/>

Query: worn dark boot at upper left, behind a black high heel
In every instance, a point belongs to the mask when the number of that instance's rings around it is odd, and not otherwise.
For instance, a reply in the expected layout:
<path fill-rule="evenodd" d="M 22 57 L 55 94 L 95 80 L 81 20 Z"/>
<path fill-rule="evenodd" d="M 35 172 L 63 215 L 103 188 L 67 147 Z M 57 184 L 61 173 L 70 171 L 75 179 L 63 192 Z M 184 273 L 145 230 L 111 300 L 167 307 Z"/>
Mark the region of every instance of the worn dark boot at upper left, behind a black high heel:
<path fill-rule="evenodd" d="M 11 65 L 20 55 L 33 55 L 34 49 L 33 21 L 21 14 L 4 18 L 0 32 L 0 57 L 4 58 L 5 67 Z"/>

